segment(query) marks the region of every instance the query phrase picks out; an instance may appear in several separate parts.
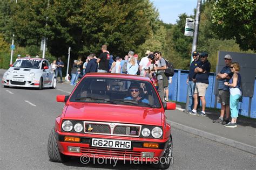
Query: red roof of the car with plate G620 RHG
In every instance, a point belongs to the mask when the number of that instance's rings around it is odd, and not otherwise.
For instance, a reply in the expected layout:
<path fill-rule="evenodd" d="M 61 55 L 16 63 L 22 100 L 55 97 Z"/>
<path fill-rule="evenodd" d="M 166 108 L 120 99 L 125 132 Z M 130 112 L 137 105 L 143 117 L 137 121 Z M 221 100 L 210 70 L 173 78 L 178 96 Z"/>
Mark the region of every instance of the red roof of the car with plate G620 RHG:
<path fill-rule="evenodd" d="M 151 81 L 149 77 L 130 75 L 130 74 L 116 74 L 116 73 L 87 73 L 85 77 L 109 77 L 119 79 L 133 79 L 140 81 Z"/>

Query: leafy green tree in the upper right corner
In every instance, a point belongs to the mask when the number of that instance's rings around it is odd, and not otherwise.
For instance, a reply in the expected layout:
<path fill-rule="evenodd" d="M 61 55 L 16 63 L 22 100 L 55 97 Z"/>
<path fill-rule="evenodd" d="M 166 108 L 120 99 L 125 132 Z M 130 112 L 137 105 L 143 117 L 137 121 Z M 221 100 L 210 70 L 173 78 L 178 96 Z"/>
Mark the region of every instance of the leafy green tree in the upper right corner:
<path fill-rule="evenodd" d="M 214 32 L 232 39 L 242 50 L 256 51 L 256 3 L 253 0 L 216 1 L 212 9 Z"/>

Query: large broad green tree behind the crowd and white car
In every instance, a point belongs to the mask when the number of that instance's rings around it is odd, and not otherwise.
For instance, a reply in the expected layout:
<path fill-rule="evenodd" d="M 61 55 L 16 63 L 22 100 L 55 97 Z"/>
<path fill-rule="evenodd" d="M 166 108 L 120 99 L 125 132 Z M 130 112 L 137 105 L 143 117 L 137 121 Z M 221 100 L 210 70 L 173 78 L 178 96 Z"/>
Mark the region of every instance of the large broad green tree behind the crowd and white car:
<path fill-rule="evenodd" d="M 103 44 L 118 55 L 137 49 L 156 29 L 158 17 L 149 0 L 50 0 L 49 9 L 47 6 L 47 1 L 32 0 L 14 5 L 19 44 L 39 46 L 46 36 L 52 55 L 66 55 L 70 46 L 74 58 L 98 54 Z"/>

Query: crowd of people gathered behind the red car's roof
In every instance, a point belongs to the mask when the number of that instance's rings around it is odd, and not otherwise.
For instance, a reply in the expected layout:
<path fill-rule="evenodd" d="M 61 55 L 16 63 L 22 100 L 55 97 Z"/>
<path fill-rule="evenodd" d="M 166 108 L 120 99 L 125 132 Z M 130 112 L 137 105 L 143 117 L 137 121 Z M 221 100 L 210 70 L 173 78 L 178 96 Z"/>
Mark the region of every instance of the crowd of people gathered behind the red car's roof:
<path fill-rule="evenodd" d="M 60 73 L 63 63 L 59 58 L 58 61 L 53 61 L 52 69 L 55 70 L 56 76 Z M 169 83 L 172 83 L 172 77 L 167 77 L 164 74 L 166 69 L 165 59 L 161 52 L 146 51 L 145 56 L 139 60 L 138 54 L 129 51 L 123 58 L 120 56 L 113 57 L 107 51 L 107 46 L 102 46 L 102 53 L 96 57 L 94 53 L 87 56 L 86 61 L 74 60 L 71 69 L 71 86 L 75 86 L 79 77 L 87 73 L 119 73 L 130 75 L 141 75 L 150 77 L 154 85 L 158 87 L 158 92 L 163 101 L 169 101 Z M 61 75 L 60 75 L 61 77 Z M 61 77 L 62 78 L 62 77 Z M 62 82 L 62 79 L 60 80 Z"/>

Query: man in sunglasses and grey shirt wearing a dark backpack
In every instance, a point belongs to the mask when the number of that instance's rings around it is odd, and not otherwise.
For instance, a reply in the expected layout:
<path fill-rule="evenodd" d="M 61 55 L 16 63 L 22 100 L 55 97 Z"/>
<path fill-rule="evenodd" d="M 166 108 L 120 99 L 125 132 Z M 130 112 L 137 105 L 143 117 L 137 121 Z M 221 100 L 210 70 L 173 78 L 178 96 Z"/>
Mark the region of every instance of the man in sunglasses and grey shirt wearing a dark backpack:
<path fill-rule="evenodd" d="M 154 70 L 157 70 L 158 93 L 161 101 L 164 101 L 164 88 L 168 86 L 168 80 L 165 75 L 166 62 L 162 58 L 161 52 L 155 51 L 153 54 L 156 60 L 158 60 L 158 64 L 154 67 Z"/>

